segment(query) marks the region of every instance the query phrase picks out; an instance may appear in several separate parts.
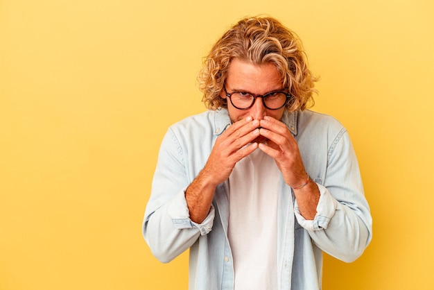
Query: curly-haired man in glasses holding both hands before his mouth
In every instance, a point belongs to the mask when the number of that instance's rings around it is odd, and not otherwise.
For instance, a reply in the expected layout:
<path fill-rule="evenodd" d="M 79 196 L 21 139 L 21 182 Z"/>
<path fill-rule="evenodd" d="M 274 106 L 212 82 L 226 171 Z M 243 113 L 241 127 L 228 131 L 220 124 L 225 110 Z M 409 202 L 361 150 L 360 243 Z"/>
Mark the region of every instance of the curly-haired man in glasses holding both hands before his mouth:
<path fill-rule="evenodd" d="M 322 251 L 345 262 L 372 237 L 345 128 L 309 110 L 300 41 L 242 19 L 200 74 L 208 110 L 171 126 L 143 233 L 162 262 L 190 249 L 189 289 L 321 289 Z"/>

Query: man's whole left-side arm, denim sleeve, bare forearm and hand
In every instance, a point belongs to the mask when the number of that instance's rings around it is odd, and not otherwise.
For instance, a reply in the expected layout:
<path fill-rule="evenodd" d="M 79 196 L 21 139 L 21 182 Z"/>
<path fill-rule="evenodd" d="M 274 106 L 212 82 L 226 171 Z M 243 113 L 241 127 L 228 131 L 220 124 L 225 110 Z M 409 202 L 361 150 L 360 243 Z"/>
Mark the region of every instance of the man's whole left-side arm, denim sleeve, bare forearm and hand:
<path fill-rule="evenodd" d="M 236 162 L 252 153 L 259 135 L 259 121 L 238 121 L 214 144 L 205 167 L 189 185 L 180 144 L 170 132 L 163 140 L 146 207 L 143 233 L 153 254 L 169 262 L 207 234 L 214 221 L 211 205 L 218 184 L 229 177 Z M 185 190 L 184 190 L 185 189 Z"/>

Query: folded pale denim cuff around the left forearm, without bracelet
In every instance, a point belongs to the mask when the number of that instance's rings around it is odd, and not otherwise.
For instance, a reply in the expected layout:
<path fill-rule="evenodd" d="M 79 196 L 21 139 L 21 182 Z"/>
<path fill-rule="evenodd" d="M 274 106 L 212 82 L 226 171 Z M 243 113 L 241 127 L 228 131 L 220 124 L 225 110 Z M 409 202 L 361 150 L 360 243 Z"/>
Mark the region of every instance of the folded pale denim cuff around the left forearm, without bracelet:
<path fill-rule="evenodd" d="M 180 191 L 172 199 L 168 205 L 168 216 L 171 217 L 173 222 L 173 227 L 177 229 L 187 229 L 187 228 L 197 228 L 200 230 L 200 234 L 204 236 L 211 232 L 212 226 L 214 224 L 214 206 L 211 205 L 211 209 L 207 217 L 202 223 L 195 223 L 191 221 L 189 214 L 189 207 L 185 199 L 185 189 Z"/>

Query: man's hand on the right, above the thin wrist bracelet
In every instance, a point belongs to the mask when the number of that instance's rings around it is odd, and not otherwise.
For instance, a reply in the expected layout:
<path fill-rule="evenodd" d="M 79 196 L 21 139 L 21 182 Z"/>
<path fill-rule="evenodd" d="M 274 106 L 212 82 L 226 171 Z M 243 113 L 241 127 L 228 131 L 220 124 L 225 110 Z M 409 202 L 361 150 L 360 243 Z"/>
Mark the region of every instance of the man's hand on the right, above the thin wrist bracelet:
<path fill-rule="evenodd" d="M 259 133 L 268 138 L 259 148 L 275 159 L 277 167 L 290 187 L 299 187 L 306 182 L 306 171 L 297 141 L 284 123 L 266 116 L 260 121 Z"/>

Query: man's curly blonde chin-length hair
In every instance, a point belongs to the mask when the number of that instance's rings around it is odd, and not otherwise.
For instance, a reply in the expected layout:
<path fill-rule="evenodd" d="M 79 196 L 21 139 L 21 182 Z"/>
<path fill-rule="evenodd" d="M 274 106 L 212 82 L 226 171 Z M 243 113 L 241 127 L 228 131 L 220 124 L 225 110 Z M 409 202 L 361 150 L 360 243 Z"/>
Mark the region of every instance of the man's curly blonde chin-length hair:
<path fill-rule="evenodd" d="M 204 59 L 198 83 L 208 109 L 227 108 L 220 92 L 234 58 L 253 65 L 274 64 L 284 88 L 294 97 L 286 104 L 289 112 L 313 105 L 313 87 L 318 79 L 308 68 L 300 38 L 272 17 L 250 17 L 232 26 Z"/>

